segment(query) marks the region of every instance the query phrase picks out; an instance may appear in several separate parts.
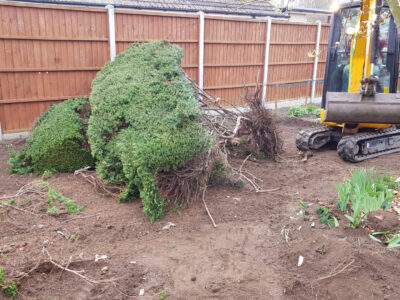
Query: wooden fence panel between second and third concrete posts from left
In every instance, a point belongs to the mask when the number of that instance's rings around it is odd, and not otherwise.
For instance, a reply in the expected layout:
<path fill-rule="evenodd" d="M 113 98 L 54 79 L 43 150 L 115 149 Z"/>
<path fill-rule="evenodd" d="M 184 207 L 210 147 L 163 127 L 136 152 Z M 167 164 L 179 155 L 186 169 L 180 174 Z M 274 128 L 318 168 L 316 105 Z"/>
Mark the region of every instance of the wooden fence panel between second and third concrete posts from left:
<path fill-rule="evenodd" d="M 204 90 L 243 104 L 243 87 L 262 83 L 265 34 L 265 21 L 206 17 Z"/>

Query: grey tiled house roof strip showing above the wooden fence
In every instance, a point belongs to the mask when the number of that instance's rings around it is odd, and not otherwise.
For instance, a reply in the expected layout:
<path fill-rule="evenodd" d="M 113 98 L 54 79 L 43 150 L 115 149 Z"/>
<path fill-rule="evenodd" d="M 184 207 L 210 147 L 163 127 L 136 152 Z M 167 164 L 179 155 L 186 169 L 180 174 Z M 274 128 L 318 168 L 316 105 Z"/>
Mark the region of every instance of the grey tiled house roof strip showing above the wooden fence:
<path fill-rule="evenodd" d="M 18 0 L 16 0 L 18 1 Z M 234 14 L 248 16 L 280 16 L 285 17 L 279 11 L 268 4 L 267 1 L 243 0 L 20 0 L 23 2 L 75 4 L 75 5 L 107 5 L 115 7 L 198 12 L 211 14 Z"/>

